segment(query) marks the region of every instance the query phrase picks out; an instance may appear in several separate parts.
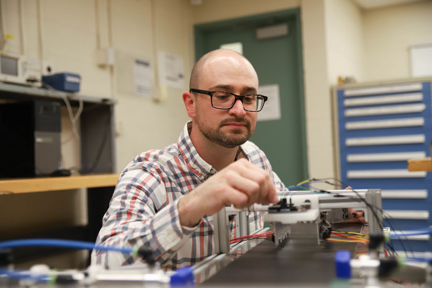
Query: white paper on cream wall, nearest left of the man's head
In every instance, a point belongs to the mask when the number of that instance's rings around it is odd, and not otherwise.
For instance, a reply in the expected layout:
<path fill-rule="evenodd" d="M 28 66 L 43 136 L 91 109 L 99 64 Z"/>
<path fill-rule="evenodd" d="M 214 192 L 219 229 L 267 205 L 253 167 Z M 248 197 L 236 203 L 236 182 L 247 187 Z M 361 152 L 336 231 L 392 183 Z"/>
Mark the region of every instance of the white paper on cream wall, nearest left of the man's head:
<path fill-rule="evenodd" d="M 184 88 L 183 58 L 167 52 L 157 53 L 159 84 L 172 88 Z"/>

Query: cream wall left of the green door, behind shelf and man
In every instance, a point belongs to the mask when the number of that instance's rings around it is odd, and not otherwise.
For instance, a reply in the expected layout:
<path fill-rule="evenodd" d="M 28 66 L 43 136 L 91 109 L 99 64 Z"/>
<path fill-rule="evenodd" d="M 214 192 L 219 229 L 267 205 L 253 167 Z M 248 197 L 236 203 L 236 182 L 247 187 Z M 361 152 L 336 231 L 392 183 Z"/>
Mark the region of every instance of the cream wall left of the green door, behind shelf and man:
<path fill-rule="evenodd" d="M 188 0 L 1 0 L 1 4 L 3 30 L 15 36 L 7 41 L 6 50 L 39 58 L 52 64 L 55 72 L 79 73 L 81 95 L 118 101 L 117 172 L 138 153 L 177 140 L 188 120 L 181 93 L 189 86 L 189 76 L 184 88 L 167 88 L 166 99 L 156 102 L 153 97 L 125 93 L 119 85 L 124 76 L 119 68 L 99 67 L 95 56 L 99 49 L 112 47 L 120 57 L 149 60 L 154 69 L 156 52 L 165 51 L 184 59 L 188 75 L 194 55 Z M 154 98 L 159 96 L 156 80 Z M 71 122 L 62 111 L 65 140 L 71 136 Z M 61 148 L 65 168 L 80 166 L 76 139 Z M 0 217 L 9 219 L 2 224 L 2 236 L 85 225 L 85 195 L 72 190 L 1 196 Z"/>

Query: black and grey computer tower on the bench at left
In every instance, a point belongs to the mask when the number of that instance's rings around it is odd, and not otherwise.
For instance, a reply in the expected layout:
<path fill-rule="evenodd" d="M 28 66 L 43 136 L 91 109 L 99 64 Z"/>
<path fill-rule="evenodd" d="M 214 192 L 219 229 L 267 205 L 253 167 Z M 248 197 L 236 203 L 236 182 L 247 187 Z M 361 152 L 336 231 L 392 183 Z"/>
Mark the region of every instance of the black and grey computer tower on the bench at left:
<path fill-rule="evenodd" d="M 0 178 L 45 176 L 58 169 L 60 103 L 0 104 Z"/>

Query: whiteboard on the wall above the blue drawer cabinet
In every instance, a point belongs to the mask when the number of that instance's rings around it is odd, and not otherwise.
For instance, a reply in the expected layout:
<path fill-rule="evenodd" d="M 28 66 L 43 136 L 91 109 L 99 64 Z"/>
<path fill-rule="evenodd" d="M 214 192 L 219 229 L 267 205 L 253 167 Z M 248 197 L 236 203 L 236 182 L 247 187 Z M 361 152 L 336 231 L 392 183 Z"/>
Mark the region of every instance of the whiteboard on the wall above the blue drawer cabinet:
<path fill-rule="evenodd" d="M 432 43 L 410 47 L 411 76 L 432 76 Z"/>

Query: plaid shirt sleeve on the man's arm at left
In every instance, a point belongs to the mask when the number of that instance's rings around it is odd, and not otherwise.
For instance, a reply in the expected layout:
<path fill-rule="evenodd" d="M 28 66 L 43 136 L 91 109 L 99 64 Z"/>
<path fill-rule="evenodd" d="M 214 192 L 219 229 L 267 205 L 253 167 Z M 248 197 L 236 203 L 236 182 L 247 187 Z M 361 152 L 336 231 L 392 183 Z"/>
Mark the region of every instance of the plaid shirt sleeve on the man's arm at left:
<path fill-rule="evenodd" d="M 127 170 L 117 183 L 96 244 L 145 247 L 164 265 L 200 224 L 193 228 L 180 225 L 177 209 L 180 197 L 168 197 L 165 186 L 150 172 L 142 168 Z M 97 249 L 92 253 L 92 264 L 105 267 L 143 262 L 127 253 Z"/>

